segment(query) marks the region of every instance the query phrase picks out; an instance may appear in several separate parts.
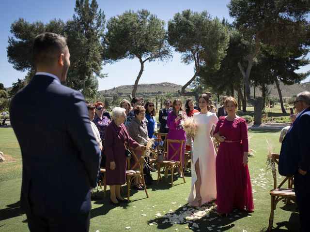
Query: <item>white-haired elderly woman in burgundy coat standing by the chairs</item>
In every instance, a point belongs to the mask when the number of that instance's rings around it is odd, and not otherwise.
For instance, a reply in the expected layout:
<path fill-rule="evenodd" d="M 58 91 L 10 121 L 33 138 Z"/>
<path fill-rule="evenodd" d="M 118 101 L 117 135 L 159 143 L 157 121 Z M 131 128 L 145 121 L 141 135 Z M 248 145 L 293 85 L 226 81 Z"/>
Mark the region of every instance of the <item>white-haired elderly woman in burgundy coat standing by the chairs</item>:
<path fill-rule="evenodd" d="M 139 143 L 134 141 L 128 134 L 124 121 L 125 109 L 115 107 L 112 110 L 113 120 L 106 129 L 106 175 L 107 185 L 110 186 L 110 203 L 119 205 L 119 202 L 127 202 L 121 196 L 121 185 L 126 182 L 125 149 L 128 147 L 140 148 Z"/>

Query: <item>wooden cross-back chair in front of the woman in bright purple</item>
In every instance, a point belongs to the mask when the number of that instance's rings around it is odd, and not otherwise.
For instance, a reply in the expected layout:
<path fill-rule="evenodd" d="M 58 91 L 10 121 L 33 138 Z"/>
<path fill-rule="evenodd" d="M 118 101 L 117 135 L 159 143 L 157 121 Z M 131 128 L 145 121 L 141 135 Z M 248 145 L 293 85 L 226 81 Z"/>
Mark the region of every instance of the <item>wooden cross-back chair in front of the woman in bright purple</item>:
<path fill-rule="evenodd" d="M 182 151 L 183 151 L 183 144 L 185 143 L 185 140 L 174 140 L 174 139 L 167 139 L 167 156 L 165 157 L 165 160 L 163 161 L 157 161 L 157 185 L 159 182 L 159 179 L 161 179 L 160 176 L 160 167 L 165 167 L 165 179 L 167 179 L 168 171 L 171 170 L 171 186 L 173 186 L 173 174 L 174 174 L 174 168 L 179 167 L 181 170 L 181 174 L 183 176 L 183 181 L 186 183 L 184 174 L 183 174 L 183 165 L 182 165 Z M 176 149 L 173 144 L 178 144 L 180 147 Z M 173 150 L 172 154 L 169 154 L 169 148 Z M 179 155 L 179 160 L 175 160 L 174 158 Z M 168 158 L 169 157 L 169 158 Z"/>

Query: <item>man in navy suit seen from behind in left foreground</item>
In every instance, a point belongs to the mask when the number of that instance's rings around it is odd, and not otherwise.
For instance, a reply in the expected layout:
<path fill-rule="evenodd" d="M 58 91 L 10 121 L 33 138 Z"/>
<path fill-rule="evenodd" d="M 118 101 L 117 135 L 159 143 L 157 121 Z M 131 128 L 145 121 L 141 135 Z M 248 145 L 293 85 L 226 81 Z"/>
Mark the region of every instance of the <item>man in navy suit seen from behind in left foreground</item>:
<path fill-rule="evenodd" d="M 32 52 L 36 74 L 10 107 L 23 160 L 21 208 L 30 231 L 88 231 L 100 150 L 84 97 L 61 85 L 70 66 L 67 41 L 43 33 Z"/>

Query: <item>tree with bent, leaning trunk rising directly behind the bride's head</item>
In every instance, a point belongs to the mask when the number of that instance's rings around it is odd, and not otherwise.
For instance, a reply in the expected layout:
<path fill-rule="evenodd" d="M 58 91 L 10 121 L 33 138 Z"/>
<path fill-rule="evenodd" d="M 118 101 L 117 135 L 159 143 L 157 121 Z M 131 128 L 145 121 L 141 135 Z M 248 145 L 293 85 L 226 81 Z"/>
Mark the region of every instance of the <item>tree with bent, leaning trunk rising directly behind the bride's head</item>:
<path fill-rule="evenodd" d="M 226 55 L 229 34 L 227 27 L 217 18 L 212 19 L 206 11 L 185 10 L 174 14 L 168 22 L 168 41 L 182 54 L 182 62 L 195 64 L 193 77 L 181 89 L 182 95 L 193 95 L 185 93 L 186 87 L 199 76 L 202 65 L 212 73 L 220 68 L 220 62 Z M 197 98 L 198 94 L 195 95 Z"/>

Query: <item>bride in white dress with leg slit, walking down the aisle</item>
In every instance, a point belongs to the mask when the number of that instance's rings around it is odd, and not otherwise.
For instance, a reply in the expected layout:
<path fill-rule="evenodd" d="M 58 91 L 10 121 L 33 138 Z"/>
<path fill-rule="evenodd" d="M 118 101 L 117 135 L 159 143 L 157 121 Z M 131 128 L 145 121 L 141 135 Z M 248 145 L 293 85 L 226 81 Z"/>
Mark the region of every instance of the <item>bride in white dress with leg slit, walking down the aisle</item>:
<path fill-rule="evenodd" d="M 210 131 L 217 124 L 217 116 L 209 112 L 211 101 L 206 94 L 199 97 L 201 112 L 195 113 L 193 120 L 197 125 L 192 149 L 192 184 L 188 203 L 193 207 L 216 199 L 216 170 L 217 157 Z"/>

